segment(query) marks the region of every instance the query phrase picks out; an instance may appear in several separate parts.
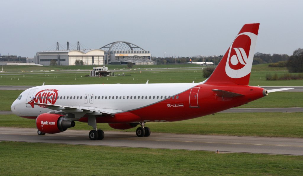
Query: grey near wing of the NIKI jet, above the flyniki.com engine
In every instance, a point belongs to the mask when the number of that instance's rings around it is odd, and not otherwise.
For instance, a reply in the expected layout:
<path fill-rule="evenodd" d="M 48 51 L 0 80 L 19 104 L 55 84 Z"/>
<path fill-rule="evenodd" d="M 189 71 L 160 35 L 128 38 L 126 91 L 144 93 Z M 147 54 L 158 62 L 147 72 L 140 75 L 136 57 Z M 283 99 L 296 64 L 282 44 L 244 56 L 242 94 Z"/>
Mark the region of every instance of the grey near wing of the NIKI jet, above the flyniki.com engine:
<path fill-rule="evenodd" d="M 110 112 L 106 112 L 106 111 L 102 111 L 99 109 L 94 109 L 94 108 L 89 108 L 89 107 L 71 107 L 71 106 L 62 106 L 62 105 L 49 105 L 49 104 L 45 104 L 45 103 L 34 103 L 34 105 L 39 105 L 48 109 L 52 109 L 52 110 L 61 110 L 65 113 L 85 113 L 88 115 L 112 115 L 114 116 L 114 114 L 110 113 Z"/>

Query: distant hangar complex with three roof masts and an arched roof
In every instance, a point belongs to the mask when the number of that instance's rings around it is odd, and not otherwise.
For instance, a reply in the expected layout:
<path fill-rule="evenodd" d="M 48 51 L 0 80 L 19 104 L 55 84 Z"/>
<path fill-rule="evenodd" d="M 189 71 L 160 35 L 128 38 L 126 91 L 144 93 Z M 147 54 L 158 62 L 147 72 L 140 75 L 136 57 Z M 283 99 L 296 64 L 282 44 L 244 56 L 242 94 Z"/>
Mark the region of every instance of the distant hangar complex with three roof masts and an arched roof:
<path fill-rule="evenodd" d="M 35 64 L 50 65 L 50 61 L 56 60 L 57 65 L 75 65 L 76 60 L 82 60 L 84 65 L 126 65 L 132 62 L 134 65 L 154 65 L 157 62 L 151 60 L 150 51 L 129 43 L 112 42 L 99 49 L 80 50 L 79 42 L 77 50 L 40 51 L 35 55 Z"/>

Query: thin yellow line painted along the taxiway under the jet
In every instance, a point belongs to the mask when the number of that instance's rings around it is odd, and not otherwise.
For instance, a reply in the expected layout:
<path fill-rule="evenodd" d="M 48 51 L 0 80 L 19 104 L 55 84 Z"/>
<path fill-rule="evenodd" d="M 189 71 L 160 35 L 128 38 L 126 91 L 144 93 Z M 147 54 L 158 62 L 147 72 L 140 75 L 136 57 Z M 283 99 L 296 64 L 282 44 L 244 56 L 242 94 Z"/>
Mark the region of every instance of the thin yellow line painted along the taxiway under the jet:
<path fill-rule="evenodd" d="M 12 134 L 12 133 L 0 133 L 0 134 L 11 134 L 11 135 L 32 135 L 36 136 L 37 134 Z M 49 136 L 49 135 L 46 135 Z M 73 137 L 73 138 L 87 138 L 82 136 L 63 136 L 60 137 Z M 49 136 L 51 137 L 51 136 Z M 52 136 L 53 137 L 53 136 Z M 55 136 L 57 137 L 57 136 Z M 303 147 L 300 145 L 275 145 L 275 144 L 247 144 L 247 143 L 228 143 L 228 142 L 200 142 L 200 141 L 174 141 L 174 140 L 156 140 L 156 139 L 136 139 L 136 138 L 105 138 L 105 139 L 120 139 L 120 140 L 138 140 L 138 141 L 164 141 L 164 142 L 188 142 L 188 143 L 210 143 L 210 144 L 241 144 L 241 145 L 259 145 L 259 146 L 281 146 L 281 147 Z"/>

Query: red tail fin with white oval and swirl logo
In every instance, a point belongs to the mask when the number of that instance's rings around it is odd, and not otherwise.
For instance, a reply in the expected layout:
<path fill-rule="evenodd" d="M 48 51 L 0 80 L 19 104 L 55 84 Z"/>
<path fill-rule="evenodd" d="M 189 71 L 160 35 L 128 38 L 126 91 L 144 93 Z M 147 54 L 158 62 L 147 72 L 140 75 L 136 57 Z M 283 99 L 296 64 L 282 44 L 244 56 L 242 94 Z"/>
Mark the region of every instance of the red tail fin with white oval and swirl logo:
<path fill-rule="evenodd" d="M 242 27 L 205 84 L 248 85 L 259 25 L 254 23 Z"/>

